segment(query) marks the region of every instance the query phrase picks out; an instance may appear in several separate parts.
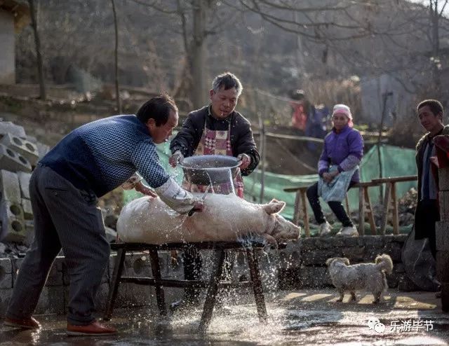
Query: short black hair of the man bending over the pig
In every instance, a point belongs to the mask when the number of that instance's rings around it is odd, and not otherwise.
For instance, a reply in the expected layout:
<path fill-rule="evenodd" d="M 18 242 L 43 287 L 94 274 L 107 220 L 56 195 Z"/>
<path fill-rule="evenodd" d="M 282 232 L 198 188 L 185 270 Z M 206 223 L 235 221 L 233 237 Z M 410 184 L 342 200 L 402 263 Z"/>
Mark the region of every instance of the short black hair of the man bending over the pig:
<path fill-rule="evenodd" d="M 161 126 L 167 123 L 170 111 L 177 112 L 175 100 L 167 94 L 162 94 L 152 97 L 145 104 L 142 104 L 135 115 L 144 124 L 147 123 L 148 119 L 154 119 L 156 126 Z"/>

